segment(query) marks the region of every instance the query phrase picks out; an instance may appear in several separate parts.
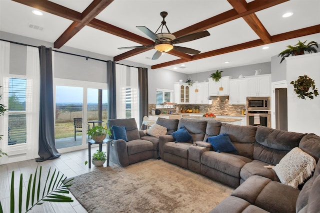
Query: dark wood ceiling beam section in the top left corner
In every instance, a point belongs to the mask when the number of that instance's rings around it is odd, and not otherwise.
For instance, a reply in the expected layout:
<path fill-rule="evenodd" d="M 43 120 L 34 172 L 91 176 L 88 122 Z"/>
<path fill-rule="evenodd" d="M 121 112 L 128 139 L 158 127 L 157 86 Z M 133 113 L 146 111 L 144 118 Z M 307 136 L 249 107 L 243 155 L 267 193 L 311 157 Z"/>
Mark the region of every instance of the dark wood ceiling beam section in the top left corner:
<path fill-rule="evenodd" d="M 80 21 L 82 19 L 81 13 L 75 10 L 69 9 L 67 7 L 61 6 L 59 4 L 53 3 L 48 0 L 12 0 L 18 3 L 22 3 L 33 8 L 40 9 L 45 12 L 49 12 L 60 17 Z"/>

